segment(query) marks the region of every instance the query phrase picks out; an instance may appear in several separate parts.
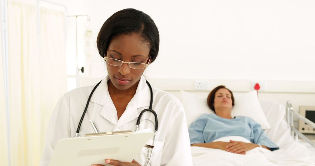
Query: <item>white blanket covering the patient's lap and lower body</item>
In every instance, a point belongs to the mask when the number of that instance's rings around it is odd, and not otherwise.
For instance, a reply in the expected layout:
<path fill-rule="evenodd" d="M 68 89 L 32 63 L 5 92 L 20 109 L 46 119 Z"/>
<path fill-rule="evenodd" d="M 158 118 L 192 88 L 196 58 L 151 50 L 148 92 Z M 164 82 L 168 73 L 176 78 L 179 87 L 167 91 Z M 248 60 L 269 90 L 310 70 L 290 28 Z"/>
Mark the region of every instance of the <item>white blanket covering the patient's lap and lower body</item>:
<path fill-rule="evenodd" d="M 215 141 L 243 141 L 250 142 L 246 138 L 240 136 L 222 137 Z M 301 156 L 305 147 L 294 142 L 288 147 L 275 150 L 273 152 L 256 147 L 247 151 L 245 155 L 226 152 L 220 149 L 192 147 L 192 160 L 194 166 L 211 166 L 211 165 L 226 165 L 226 166 L 269 166 L 269 165 L 315 165 L 315 156 Z M 298 154 L 298 155 L 297 155 Z"/>

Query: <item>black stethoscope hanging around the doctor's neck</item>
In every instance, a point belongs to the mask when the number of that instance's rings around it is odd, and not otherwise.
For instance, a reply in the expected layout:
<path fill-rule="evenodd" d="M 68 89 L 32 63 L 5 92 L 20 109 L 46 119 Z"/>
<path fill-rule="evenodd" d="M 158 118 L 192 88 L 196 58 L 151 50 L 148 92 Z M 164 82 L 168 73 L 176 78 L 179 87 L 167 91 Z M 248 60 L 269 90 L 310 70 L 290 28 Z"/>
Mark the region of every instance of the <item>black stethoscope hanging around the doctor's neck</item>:
<path fill-rule="evenodd" d="M 90 96 L 89 96 L 89 98 L 88 98 L 88 102 L 86 103 L 85 109 L 84 109 L 84 111 L 83 111 L 83 114 L 82 114 L 82 116 L 81 116 L 81 119 L 80 119 L 80 122 L 79 122 L 79 125 L 78 125 L 78 128 L 77 128 L 76 137 L 80 137 L 79 131 L 80 131 L 80 128 L 81 128 L 81 124 L 82 124 L 84 115 L 85 115 L 86 111 L 88 110 L 89 102 L 90 102 L 90 100 L 91 100 L 91 97 L 92 97 L 92 95 L 93 95 L 95 89 L 97 88 L 97 86 L 100 85 L 101 82 L 102 82 L 102 81 L 100 81 L 99 83 L 97 83 L 96 86 L 93 88 L 92 92 L 90 93 Z M 136 128 L 136 131 L 138 131 L 142 114 L 145 113 L 146 111 L 149 111 L 149 112 L 153 113 L 154 118 L 155 118 L 155 130 L 154 130 L 154 136 L 153 136 L 152 146 L 154 146 L 155 136 L 156 136 L 156 132 L 157 132 L 157 114 L 156 114 L 155 111 L 153 111 L 153 109 L 152 109 L 152 103 L 153 103 L 153 91 L 152 91 L 152 87 L 151 87 L 150 83 L 149 83 L 147 80 L 146 80 L 146 84 L 149 86 L 150 94 L 151 94 L 150 106 L 149 106 L 149 108 L 144 109 L 144 110 L 141 111 L 141 113 L 140 113 L 140 115 L 139 115 L 139 117 L 138 117 L 138 119 L 137 119 L 137 123 L 136 123 L 136 124 L 137 124 L 137 128 Z M 150 120 L 150 121 L 151 121 L 151 120 Z M 153 122 L 152 122 L 152 123 L 153 123 Z M 149 147 L 147 147 L 147 162 L 146 162 L 145 166 L 148 166 L 148 165 L 150 164 L 152 152 L 153 152 L 153 149 L 151 150 L 151 154 L 150 154 L 150 157 L 149 157 Z"/>

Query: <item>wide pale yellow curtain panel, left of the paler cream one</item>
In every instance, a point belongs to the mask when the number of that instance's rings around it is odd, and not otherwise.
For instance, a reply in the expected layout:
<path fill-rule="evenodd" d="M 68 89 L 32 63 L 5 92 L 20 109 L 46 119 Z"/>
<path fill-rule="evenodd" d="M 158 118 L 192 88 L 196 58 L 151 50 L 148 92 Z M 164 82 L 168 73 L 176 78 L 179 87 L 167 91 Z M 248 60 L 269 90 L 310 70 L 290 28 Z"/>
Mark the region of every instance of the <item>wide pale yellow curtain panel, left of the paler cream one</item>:
<path fill-rule="evenodd" d="M 36 6 L 8 3 L 11 166 L 38 165 L 41 123 Z"/>

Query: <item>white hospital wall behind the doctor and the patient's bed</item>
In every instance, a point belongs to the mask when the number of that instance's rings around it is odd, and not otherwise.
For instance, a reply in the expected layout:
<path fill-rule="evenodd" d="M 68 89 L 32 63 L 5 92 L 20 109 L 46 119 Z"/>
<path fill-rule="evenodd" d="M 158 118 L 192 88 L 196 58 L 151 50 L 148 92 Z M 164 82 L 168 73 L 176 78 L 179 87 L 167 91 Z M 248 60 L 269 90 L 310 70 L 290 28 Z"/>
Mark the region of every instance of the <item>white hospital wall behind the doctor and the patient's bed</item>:
<path fill-rule="evenodd" d="M 36 0 L 20 1 L 36 5 Z M 226 84 L 236 92 L 249 91 L 250 80 L 263 80 L 267 88 L 261 92 L 262 100 L 272 99 L 282 104 L 291 100 L 296 111 L 299 105 L 315 105 L 315 85 L 312 85 L 315 80 L 315 22 L 312 21 L 315 19 L 315 1 L 53 2 L 65 5 L 68 15 L 90 15 L 90 21 L 86 17 L 77 19 L 78 66 L 85 67 L 82 76 L 88 80 L 106 74 L 96 48 L 96 36 L 104 21 L 118 10 L 136 8 L 149 14 L 160 31 L 159 56 L 146 71 L 151 80 L 157 79 L 155 86 L 179 97 L 180 89 L 193 91 L 193 84 L 174 86 L 183 79 L 188 79 L 186 82 L 209 80 L 210 87 Z M 92 30 L 94 40 L 90 69 L 84 54 L 84 32 L 87 29 Z M 69 17 L 69 75 L 75 74 L 75 55 L 75 18 Z M 159 83 L 166 80 L 168 85 Z M 289 81 L 277 84 L 275 80 Z M 300 82 L 296 84 L 294 81 L 297 80 Z M 299 88 L 303 85 L 306 87 Z M 210 89 L 193 93 L 206 95 Z"/>

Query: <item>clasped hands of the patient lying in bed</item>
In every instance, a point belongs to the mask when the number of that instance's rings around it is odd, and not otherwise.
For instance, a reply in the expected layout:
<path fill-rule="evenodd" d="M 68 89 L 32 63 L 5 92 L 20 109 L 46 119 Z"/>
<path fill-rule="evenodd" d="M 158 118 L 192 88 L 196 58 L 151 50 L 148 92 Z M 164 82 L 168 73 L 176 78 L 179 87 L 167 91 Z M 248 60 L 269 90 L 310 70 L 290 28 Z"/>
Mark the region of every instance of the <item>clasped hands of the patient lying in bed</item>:
<path fill-rule="evenodd" d="M 254 149 L 255 147 L 258 147 L 258 145 L 253 144 L 253 143 L 245 143 L 245 142 L 230 140 L 230 143 L 226 146 L 226 151 L 241 154 L 251 149 Z"/>

